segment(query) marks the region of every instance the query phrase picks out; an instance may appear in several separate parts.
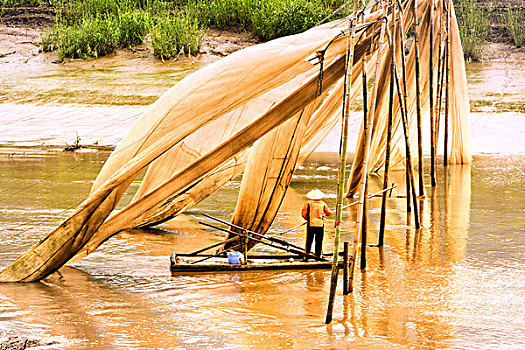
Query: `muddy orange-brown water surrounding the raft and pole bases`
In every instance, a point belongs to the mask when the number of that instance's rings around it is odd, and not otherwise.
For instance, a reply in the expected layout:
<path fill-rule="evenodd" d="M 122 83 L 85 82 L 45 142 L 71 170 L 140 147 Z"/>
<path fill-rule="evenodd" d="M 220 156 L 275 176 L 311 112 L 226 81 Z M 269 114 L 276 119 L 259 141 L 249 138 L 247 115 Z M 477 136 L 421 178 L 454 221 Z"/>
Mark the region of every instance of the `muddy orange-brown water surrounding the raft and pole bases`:
<path fill-rule="evenodd" d="M 0 154 L 0 265 L 52 230 L 87 195 L 105 152 Z M 334 155 L 316 154 L 294 176 L 274 232 L 293 227 L 313 186 L 335 201 Z M 424 228 L 406 225 L 393 193 L 387 247 L 369 248 L 355 291 L 337 293 L 324 325 L 330 273 L 171 276 L 171 251 L 221 240 L 200 213 L 227 219 L 234 181 L 170 225 L 118 235 L 43 282 L 0 284 L 0 337 L 36 336 L 68 349 L 517 349 L 525 346 L 525 157 L 476 157 L 426 188 Z M 60 171 L 58 175 L 53 175 Z M 393 181 L 403 184 L 395 174 Z M 372 189 L 378 184 L 372 181 Z M 132 186 L 133 188 L 134 186 Z M 128 194 L 129 198 L 129 194 Z M 375 241 L 379 201 L 372 201 Z M 355 218 L 355 211 L 345 214 Z M 343 239 L 353 225 L 345 221 Z M 330 222 L 331 223 L 331 222 Z M 325 251 L 332 249 L 328 225 Z M 302 245 L 302 232 L 286 234 Z M 264 248 L 257 248 L 265 251 Z"/>

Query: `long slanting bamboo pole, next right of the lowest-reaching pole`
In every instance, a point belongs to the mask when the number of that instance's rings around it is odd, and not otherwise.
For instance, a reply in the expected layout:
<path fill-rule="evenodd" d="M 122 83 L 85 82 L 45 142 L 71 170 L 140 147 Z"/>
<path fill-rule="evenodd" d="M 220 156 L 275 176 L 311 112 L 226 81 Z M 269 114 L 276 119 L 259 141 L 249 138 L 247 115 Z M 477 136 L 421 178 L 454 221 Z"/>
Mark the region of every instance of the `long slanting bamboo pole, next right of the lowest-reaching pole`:
<path fill-rule="evenodd" d="M 383 15 L 385 15 L 384 8 L 383 8 Z M 383 57 L 383 44 L 385 41 L 385 32 L 386 32 L 386 24 L 383 23 L 381 25 L 381 34 L 379 36 L 379 48 L 377 50 L 377 60 L 376 60 L 376 69 L 375 69 L 376 77 L 379 76 L 379 72 L 380 72 L 380 63 L 381 63 L 381 57 Z M 369 124 L 371 124 L 370 122 L 372 121 L 372 118 L 375 115 L 375 101 L 377 98 L 378 80 L 379 79 L 377 78 L 374 80 L 374 86 L 372 88 L 372 98 L 370 100 L 370 112 L 369 112 L 370 118 L 368 118 Z M 365 127 L 368 128 L 369 126 L 370 125 L 365 126 Z M 365 139 L 365 144 L 364 144 L 365 151 L 364 151 L 364 156 L 363 156 L 363 176 L 361 179 L 360 190 L 359 190 L 359 207 L 357 210 L 357 221 L 356 221 L 356 233 L 354 235 L 354 246 L 352 249 L 352 258 L 350 259 L 350 274 L 349 274 L 350 292 L 352 292 L 353 290 L 354 267 L 355 267 L 355 262 L 357 261 L 359 241 L 361 239 L 361 232 L 363 229 L 363 226 L 361 225 L 361 220 L 362 220 L 363 215 L 366 215 L 366 213 L 364 213 L 363 211 L 364 209 L 363 203 L 366 199 L 366 182 L 368 180 L 368 158 L 369 158 L 369 153 L 370 153 L 371 135 L 372 135 L 372 130 L 369 130 L 367 139 Z"/>

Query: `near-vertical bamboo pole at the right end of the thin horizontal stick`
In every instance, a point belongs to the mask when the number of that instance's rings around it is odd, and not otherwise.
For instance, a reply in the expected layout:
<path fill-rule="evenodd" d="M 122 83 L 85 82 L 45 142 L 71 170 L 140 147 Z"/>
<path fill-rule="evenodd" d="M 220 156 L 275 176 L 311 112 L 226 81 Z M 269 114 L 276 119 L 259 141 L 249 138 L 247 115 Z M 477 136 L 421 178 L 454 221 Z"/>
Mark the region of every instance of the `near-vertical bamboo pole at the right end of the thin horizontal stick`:
<path fill-rule="evenodd" d="M 395 18 L 396 18 L 396 4 L 394 2 L 393 9 L 392 9 L 392 28 L 390 37 L 394 37 L 393 33 L 395 31 Z M 396 53 L 395 50 L 395 42 L 392 40 L 390 42 L 390 52 L 391 52 L 391 60 L 390 60 L 390 91 L 389 91 L 389 100 L 388 100 L 388 125 L 387 125 L 387 132 L 386 132 L 386 155 L 385 155 L 385 174 L 383 177 L 383 190 L 388 188 L 388 171 L 390 168 L 390 147 L 392 143 L 392 119 L 394 115 L 394 55 Z M 385 241 L 385 225 L 386 225 L 386 199 L 387 199 L 388 193 L 387 191 L 383 192 L 383 197 L 381 199 L 381 218 L 379 221 L 379 237 L 377 241 L 377 246 L 382 247 L 384 245 Z"/>

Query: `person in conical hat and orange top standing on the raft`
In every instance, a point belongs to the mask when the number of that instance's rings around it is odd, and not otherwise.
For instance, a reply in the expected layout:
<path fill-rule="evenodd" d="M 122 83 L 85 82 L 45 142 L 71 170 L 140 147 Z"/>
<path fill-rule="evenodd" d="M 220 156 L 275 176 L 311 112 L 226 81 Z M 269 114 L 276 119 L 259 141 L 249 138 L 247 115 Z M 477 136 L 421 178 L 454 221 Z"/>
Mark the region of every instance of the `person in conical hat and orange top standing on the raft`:
<path fill-rule="evenodd" d="M 323 201 L 324 193 L 314 188 L 306 194 L 308 201 L 304 204 L 301 215 L 306 220 L 306 253 L 310 253 L 312 243 L 315 238 L 315 255 L 322 257 L 323 253 L 323 238 L 324 238 L 324 222 L 323 216 L 332 215 L 332 211 Z M 305 257 L 304 261 L 308 261 Z"/>

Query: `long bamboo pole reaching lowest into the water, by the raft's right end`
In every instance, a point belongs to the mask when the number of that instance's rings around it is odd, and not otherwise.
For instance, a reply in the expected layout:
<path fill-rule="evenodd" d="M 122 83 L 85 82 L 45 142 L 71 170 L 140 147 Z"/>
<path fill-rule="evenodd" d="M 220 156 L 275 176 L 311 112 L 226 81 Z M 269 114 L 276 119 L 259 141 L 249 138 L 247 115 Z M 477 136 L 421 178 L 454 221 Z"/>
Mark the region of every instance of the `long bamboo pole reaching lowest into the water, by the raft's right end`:
<path fill-rule="evenodd" d="M 345 171 L 346 171 L 346 149 L 348 143 L 348 115 L 350 113 L 350 89 L 352 86 L 352 68 L 354 66 L 354 37 L 355 37 L 355 13 L 349 20 L 348 38 L 346 51 L 346 71 L 344 80 L 343 117 L 341 126 L 341 145 L 339 149 L 339 176 L 337 183 L 337 205 L 335 211 L 335 238 L 334 256 L 332 260 L 332 275 L 330 280 L 330 294 L 328 297 L 328 308 L 326 311 L 326 324 L 332 322 L 335 291 L 337 289 L 337 276 L 339 273 L 339 237 L 341 234 L 341 217 L 343 213 L 343 196 L 345 194 Z"/>

